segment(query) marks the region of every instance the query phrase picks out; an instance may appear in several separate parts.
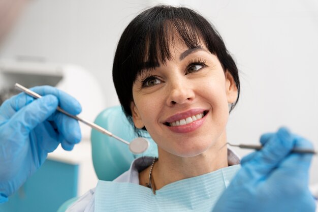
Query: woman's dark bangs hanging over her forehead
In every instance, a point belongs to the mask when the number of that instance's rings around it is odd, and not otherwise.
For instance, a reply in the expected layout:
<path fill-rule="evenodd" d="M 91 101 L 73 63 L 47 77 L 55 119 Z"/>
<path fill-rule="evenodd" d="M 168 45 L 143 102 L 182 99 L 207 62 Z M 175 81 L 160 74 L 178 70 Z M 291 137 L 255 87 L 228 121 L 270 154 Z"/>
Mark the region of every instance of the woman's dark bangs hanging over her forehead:
<path fill-rule="evenodd" d="M 153 17 L 150 15 L 149 20 L 156 24 L 144 23 L 141 28 L 147 32 L 139 39 L 138 46 L 132 53 L 135 58 L 136 72 L 133 78 L 136 80 L 139 74 L 145 69 L 154 69 L 159 64 L 166 64 L 171 59 L 169 46 L 173 46 L 175 38 L 181 39 L 188 48 L 197 48 L 202 45 L 200 38 L 202 33 L 193 23 L 192 17 L 183 10 L 166 11 L 166 13 Z"/>

